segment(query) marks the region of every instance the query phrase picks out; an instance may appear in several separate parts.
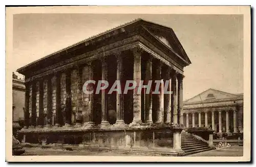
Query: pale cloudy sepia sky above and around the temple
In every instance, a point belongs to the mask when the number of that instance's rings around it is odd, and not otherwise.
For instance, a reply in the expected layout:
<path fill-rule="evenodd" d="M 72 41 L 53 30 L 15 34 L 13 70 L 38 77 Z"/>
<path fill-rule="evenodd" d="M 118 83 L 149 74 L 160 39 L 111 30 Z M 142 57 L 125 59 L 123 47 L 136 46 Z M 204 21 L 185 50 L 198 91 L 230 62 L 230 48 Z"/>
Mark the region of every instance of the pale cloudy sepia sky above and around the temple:
<path fill-rule="evenodd" d="M 171 27 L 183 45 L 184 100 L 209 88 L 243 92 L 243 15 L 15 14 L 11 70 L 136 18 Z"/>

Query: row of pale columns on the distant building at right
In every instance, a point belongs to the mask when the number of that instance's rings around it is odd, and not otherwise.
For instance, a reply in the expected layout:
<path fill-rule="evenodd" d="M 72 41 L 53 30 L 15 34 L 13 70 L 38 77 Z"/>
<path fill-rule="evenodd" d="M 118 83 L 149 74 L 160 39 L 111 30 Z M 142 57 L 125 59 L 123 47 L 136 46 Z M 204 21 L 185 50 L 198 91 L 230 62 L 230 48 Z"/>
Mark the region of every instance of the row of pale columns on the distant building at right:
<path fill-rule="evenodd" d="M 230 132 L 229 130 L 229 111 L 226 112 L 226 132 Z M 212 130 L 215 130 L 215 111 L 211 112 L 211 126 Z M 219 132 L 222 132 L 222 117 L 221 113 L 222 111 L 219 111 Z M 186 127 L 189 125 L 189 113 L 186 113 Z M 204 112 L 205 116 L 205 127 L 208 127 L 208 112 Z M 198 126 L 201 127 L 201 112 L 198 112 Z M 192 127 L 195 127 L 195 112 L 192 112 Z M 238 131 L 237 128 L 237 110 L 233 110 L 233 127 L 234 127 L 234 132 Z"/>

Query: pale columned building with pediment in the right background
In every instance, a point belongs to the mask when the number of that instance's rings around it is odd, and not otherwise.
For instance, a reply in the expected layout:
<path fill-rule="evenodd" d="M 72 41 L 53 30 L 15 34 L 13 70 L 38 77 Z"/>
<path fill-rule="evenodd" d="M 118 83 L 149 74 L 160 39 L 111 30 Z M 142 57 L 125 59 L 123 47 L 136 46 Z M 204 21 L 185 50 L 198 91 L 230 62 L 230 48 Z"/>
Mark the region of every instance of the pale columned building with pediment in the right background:
<path fill-rule="evenodd" d="M 210 88 L 183 104 L 186 127 L 209 127 L 216 133 L 228 135 L 243 133 L 243 93 Z"/>

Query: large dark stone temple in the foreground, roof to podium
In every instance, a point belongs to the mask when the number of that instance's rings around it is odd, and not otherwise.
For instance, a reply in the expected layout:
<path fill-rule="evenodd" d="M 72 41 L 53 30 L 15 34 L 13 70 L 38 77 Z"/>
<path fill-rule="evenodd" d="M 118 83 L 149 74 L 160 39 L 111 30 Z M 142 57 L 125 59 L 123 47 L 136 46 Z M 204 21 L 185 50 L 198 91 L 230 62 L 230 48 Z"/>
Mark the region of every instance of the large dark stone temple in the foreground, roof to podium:
<path fill-rule="evenodd" d="M 171 28 L 143 19 L 66 47 L 17 70 L 26 85 L 20 136 L 35 144 L 182 153 L 183 68 L 190 63 Z M 96 81 L 90 90 L 99 80 L 109 87 L 169 80 L 173 93 L 85 94 L 88 80 Z"/>

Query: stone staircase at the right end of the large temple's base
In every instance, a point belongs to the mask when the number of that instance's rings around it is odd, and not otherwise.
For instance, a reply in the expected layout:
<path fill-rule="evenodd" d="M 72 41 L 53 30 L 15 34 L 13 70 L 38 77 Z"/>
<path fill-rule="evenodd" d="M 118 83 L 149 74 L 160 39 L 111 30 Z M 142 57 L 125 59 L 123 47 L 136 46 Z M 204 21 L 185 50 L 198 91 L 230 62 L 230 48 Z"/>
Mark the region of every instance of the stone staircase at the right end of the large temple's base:
<path fill-rule="evenodd" d="M 185 152 L 184 155 L 195 154 L 203 151 L 212 150 L 206 142 L 192 136 L 192 134 L 181 133 L 181 149 Z"/>

